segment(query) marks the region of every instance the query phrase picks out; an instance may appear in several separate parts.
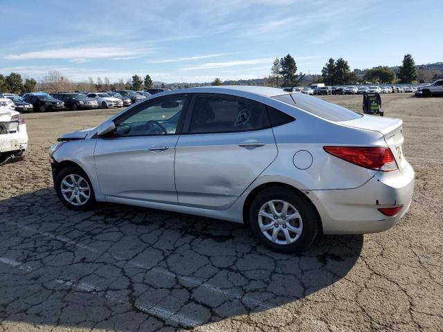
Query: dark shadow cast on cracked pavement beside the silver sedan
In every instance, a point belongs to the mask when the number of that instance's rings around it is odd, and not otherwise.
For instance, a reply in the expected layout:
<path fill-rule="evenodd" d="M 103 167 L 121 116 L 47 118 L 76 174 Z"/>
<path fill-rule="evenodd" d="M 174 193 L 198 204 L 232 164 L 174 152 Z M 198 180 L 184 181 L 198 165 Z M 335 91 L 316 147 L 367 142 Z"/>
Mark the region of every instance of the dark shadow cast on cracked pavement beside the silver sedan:
<path fill-rule="evenodd" d="M 264 312 L 331 286 L 363 246 L 320 237 L 281 255 L 243 225 L 123 205 L 73 212 L 51 188 L 3 199 L 0 216 L 4 326 L 150 331 Z"/>

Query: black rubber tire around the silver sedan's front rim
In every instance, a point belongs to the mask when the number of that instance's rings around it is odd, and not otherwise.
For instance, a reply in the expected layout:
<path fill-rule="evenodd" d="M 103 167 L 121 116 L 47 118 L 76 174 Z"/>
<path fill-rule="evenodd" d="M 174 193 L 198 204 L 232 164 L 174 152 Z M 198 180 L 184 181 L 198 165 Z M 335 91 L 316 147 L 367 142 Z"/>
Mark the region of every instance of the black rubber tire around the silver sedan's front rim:
<path fill-rule="evenodd" d="M 62 194 L 62 181 L 66 176 L 69 176 L 70 174 L 81 176 L 84 179 L 84 181 L 86 181 L 87 184 L 89 185 L 89 199 L 87 201 L 84 201 L 84 203 L 82 203 L 81 205 L 75 205 L 75 203 L 69 203 L 69 201 L 67 201 Z M 54 189 L 55 192 L 57 192 L 57 196 L 60 199 L 60 201 L 62 201 L 62 203 L 71 210 L 87 211 L 91 210 L 91 208 L 93 208 L 93 205 L 96 204 L 96 196 L 94 194 L 91 181 L 89 180 L 87 174 L 83 171 L 83 169 L 81 169 L 78 166 L 69 165 L 60 169 L 60 171 L 57 172 L 57 174 L 55 174 Z"/>

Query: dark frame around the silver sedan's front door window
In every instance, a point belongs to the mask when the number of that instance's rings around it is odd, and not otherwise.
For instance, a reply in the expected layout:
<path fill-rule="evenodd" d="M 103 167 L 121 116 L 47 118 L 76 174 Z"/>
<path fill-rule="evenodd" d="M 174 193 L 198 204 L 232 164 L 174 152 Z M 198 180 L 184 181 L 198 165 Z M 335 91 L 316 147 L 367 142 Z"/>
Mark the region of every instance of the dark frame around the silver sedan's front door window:
<path fill-rule="evenodd" d="M 133 107 L 132 109 L 129 109 L 127 112 L 120 114 L 120 116 L 116 117 L 112 121 L 116 124 L 118 120 L 121 118 L 124 118 L 125 116 L 132 116 L 134 113 L 139 111 L 140 109 L 146 109 L 147 107 L 150 107 L 150 104 L 153 104 L 154 102 L 159 102 L 163 99 L 170 99 L 170 98 L 185 98 L 185 102 L 183 104 L 183 109 L 181 109 L 182 113 L 179 116 L 179 121 L 177 122 L 177 129 L 175 133 L 162 133 L 162 134 L 152 134 L 152 135 L 127 135 L 127 136 L 114 136 L 114 133 L 107 136 L 106 138 L 127 138 L 127 137 L 163 137 L 163 136 L 173 136 L 173 135 L 181 135 L 183 131 L 183 122 L 186 117 L 186 113 L 188 113 L 188 107 L 190 102 L 190 93 L 176 93 L 173 95 L 162 95 L 157 98 L 150 98 L 150 100 L 145 100 L 145 102 L 141 102 L 136 107 Z"/>

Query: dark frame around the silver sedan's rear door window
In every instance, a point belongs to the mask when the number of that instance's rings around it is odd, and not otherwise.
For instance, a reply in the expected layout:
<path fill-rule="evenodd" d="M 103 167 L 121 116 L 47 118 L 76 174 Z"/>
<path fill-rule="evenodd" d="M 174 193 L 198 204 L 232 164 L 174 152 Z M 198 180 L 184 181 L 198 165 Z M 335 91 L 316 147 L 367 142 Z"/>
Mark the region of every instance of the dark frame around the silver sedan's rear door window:
<path fill-rule="evenodd" d="M 226 99 L 235 99 L 235 100 L 244 100 L 245 102 L 252 102 L 255 104 L 260 104 L 262 107 L 264 107 L 264 111 L 266 112 L 266 118 L 268 119 L 269 126 L 258 128 L 258 129 L 249 129 L 249 130 L 235 130 L 235 131 L 208 131 L 204 133 L 190 133 L 190 124 L 192 120 L 192 115 L 194 113 L 194 106 L 195 106 L 195 100 L 197 100 L 198 97 L 217 97 L 217 98 L 226 98 Z M 268 105 L 263 104 L 262 102 L 257 102 L 257 100 L 249 99 L 240 97 L 238 95 L 229 95 L 226 93 L 192 93 L 190 98 L 190 104 L 188 108 L 188 112 L 186 113 L 186 118 L 183 124 L 183 131 L 181 132 L 182 135 L 207 135 L 207 134 L 215 134 L 215 133 L 247 133 L 248 131 L 259 131 L 259 130 L 266 130 L 271 129 L 271 119 L 269 118 L 268 113 Z"/>

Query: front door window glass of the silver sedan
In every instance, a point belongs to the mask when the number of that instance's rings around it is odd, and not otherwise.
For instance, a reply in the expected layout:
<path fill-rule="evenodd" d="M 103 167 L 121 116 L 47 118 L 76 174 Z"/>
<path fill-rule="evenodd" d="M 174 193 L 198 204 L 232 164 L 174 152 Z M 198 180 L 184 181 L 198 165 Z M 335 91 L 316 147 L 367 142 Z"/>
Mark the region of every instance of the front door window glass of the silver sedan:
<path fill-rule="evenodd" d="M 151 101 L 116 121 L 114 136 L 171 135 L 178 132 L 186 96 Z"/>

